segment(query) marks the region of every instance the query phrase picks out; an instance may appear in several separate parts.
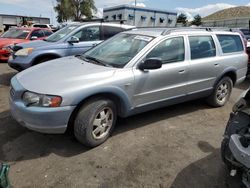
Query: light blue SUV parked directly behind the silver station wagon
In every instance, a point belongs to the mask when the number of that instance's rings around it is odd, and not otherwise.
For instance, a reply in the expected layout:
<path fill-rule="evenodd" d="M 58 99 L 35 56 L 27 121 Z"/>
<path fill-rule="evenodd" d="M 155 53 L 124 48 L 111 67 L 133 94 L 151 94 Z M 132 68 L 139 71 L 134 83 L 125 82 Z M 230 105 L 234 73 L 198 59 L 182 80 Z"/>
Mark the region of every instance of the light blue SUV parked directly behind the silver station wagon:
<path fill-rule="evenodd" d="M 46 40 L 16 45 L 9 66 L 21 71 L 48 60 L 81 54 L 115 34 L 134 26 L 112 23 L 71 24 Z"/>

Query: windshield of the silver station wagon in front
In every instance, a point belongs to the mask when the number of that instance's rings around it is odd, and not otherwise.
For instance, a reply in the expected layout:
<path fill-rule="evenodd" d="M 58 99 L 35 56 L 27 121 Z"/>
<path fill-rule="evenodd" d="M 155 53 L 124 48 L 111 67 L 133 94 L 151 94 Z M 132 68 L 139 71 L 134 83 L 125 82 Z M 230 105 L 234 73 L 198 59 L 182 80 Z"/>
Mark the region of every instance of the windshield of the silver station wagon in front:
<path fill-rule="evenodd" d="M 118 34 L 99 46 L 87 51 L 84 57 L 113 67 L 124 67 L 153 38 L 142 35 Z"/>

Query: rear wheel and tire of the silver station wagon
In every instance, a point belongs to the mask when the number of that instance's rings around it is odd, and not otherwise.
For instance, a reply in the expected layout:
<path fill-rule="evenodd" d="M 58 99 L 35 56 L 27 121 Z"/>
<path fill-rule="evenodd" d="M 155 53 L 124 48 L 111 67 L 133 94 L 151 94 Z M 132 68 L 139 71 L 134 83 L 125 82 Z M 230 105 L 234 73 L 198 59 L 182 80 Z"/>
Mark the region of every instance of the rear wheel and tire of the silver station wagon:
<path fill-rule="evenodd" d="M 213 93 L 207 98 L 207 103 L 213 107 L 224 106 L 233 89 L 232 79 L 223 77 L 215 86 Z"/>

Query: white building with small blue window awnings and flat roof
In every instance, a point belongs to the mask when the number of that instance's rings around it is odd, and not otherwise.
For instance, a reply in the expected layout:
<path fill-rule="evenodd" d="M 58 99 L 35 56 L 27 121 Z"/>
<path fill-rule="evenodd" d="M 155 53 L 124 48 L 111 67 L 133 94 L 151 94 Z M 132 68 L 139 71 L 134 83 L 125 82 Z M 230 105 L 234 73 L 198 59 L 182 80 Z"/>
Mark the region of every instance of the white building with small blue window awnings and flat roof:
<path fill-rule="evenodd" d="M 136 27 L 175 27 L 177 13 L 159 9 L 120 5 L 105 8 L 103 18 L 107 21 L 123 21 Z"/>

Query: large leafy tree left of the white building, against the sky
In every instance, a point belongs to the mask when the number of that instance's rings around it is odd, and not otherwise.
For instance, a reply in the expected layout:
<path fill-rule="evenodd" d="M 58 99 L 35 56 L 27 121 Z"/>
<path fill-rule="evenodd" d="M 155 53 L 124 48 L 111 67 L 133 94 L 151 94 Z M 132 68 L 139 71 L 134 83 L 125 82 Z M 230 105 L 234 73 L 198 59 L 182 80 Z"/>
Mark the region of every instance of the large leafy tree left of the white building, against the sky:
<path fill-rule="evenodd" d="M 92 18 L 92 12 L 96 11 L 94 0 L 57 0 L 54 7 L 57 12 L 57 21 L 80 21 L 83 17 Z"/>

